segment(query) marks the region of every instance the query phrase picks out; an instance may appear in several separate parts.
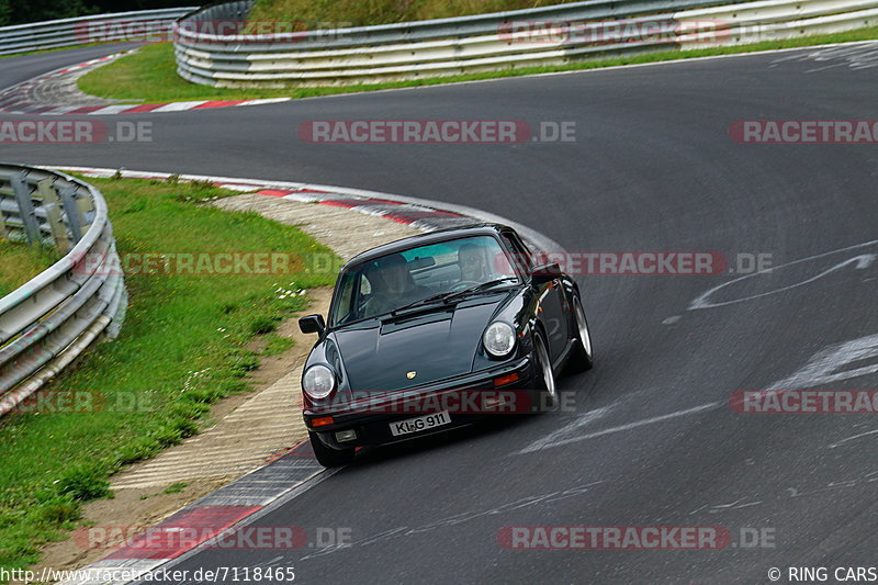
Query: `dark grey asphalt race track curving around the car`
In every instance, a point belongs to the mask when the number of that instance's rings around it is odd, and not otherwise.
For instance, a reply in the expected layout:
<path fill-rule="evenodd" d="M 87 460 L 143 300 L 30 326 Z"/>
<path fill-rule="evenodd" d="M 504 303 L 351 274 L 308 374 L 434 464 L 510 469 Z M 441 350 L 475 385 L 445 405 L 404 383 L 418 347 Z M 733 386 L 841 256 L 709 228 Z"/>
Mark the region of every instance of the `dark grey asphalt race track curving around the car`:
<path fill-rule="evenodd" d="M 111 50 L 2 59 L 0 86 Z M 741 390 L 878 384 L 877 147 L 745 145 L 728 133 L 739 120 L 878 119 L 878 66 L 808 54 L 102 117 L 151 122 L 153 142 L 3 145 L 0 159 L 414 195 L 521 222 L 570 251 L 766 254 L 775 267 L 808 258 L 708 296 L 736 277 L 581 275 L 597 362 L 560 382 L 576 412 L 371 451 L 255 521 L 347 527 L 349 547 L 204 551 L 177 565 L 291 564 L 299 582 L 333 584 L 768 583 L 779 567 L 787 583 L 789 566 L 878 564 L 874 415 L 729 406 Z M 577 130 L 573 143 L 517 145 L 314 145 L 296 133 L 336 119 Z M 801 373 L 820 352 L 820 367 Z M 581 525 L 721 526 L 732 542 L 498 543 L 504 527 Z M 746 547 L 741 531 L 754 528 L 766 538 Z"/>

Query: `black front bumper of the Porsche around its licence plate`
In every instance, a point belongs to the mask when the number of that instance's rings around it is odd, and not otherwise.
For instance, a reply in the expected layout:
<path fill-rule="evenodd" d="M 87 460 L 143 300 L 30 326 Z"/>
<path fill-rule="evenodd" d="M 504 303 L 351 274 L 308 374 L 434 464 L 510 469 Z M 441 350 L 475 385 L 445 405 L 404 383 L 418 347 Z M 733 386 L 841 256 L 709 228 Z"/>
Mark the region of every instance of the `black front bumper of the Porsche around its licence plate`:
<path fill-rule="evenodd" d="M 517 374 L 518 379 L 508 384 L 495 384 L 495 380 L 511 374 Z M 334 449 L 386 445 L 464 427 L 491 415 L 534 412 L 540 400 L 539 391 L 534 390 L 537 381 L 534 362 L 525 357 L 426 386 L 382 393 L 331 408 L 306 409 L 303 417 L 308 430 Z M 450 424 L 406 435 L 391 434 L 391 423 L 439 412 L 449 414 Z M 328 417 L 331 417 L 330 424 L 315 426 L 315 419 L 326 423 Z M 338 432 L 351 430 L 352 439 L 338 440 Z"/>

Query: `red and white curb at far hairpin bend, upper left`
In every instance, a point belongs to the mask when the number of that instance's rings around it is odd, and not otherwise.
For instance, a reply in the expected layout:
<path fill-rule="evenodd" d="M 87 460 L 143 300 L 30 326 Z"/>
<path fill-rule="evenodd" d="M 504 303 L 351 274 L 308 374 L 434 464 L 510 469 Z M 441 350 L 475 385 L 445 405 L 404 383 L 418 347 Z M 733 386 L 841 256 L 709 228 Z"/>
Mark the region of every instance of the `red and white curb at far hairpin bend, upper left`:
<path fill-rule="evenodd" d="M 261 105 L 290 101 L 292 98 L 263 98 L 257 100 L 194 100 L 166 103 L 110 103 L 100 105 L 53 104 L 34 97 L 35 90 L 47 82 L 56 81 L 65 76 L 82 72 L 82 69 L 106 65 L 109 61 L 128 55 L 132 52 L 116 53 L 105 57 L 91 59 L 71 67 L 57 69 L 48 74 L 29 79 L 0 92 L 0 113 L 30 115 L 115 115 L 188 112 L 190 110 L 207 110 L 213 108 L 238 108 L 243 105 Z"/>

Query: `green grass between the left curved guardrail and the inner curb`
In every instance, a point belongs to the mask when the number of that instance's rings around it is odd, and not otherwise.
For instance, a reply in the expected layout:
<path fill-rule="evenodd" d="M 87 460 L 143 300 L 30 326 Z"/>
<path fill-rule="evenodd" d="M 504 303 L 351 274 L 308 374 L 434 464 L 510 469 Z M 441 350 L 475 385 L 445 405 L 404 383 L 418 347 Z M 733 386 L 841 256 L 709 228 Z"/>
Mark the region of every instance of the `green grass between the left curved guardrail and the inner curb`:
<path fill-rule="evenodd" d="M 198 203 L 230 191 L 167 181 L 87 180 L 104 193 L 123 255 L 328 254 L 294 227 Z M 108 495 L 113 472 L 196 432 L 211 403 L 247 391 L 245 378 L 259 363 L 246 349 L 255 331 L 306 304 L 303 296 L 278 290 L 329 285 L 335 278 L 300 267 L 303 271 L 281 275 L 126 277 L 131 301 L 121 336 L 100 345 L 40 394 L 89 393 L 108 407 L 29 410 L 0 419 L 0 566 L 37 561 L 42 544 L 75 528 L 82 502 Z"/>

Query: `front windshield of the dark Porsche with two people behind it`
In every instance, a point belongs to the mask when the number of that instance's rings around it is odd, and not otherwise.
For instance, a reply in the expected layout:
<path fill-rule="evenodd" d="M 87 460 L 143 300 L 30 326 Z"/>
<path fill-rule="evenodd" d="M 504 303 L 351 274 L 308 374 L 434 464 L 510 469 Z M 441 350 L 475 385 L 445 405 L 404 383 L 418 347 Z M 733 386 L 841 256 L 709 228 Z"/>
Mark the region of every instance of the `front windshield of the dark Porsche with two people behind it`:
<path fill-rule="evenodd" d="M 494 281 L 499 285 L 517 280 L 508 255 L 491 236 L 419 246 L 346 271 L 336 291 L 331 324 L 376 317 L 425 300 L 438 302 L 446 294 Z"/>

